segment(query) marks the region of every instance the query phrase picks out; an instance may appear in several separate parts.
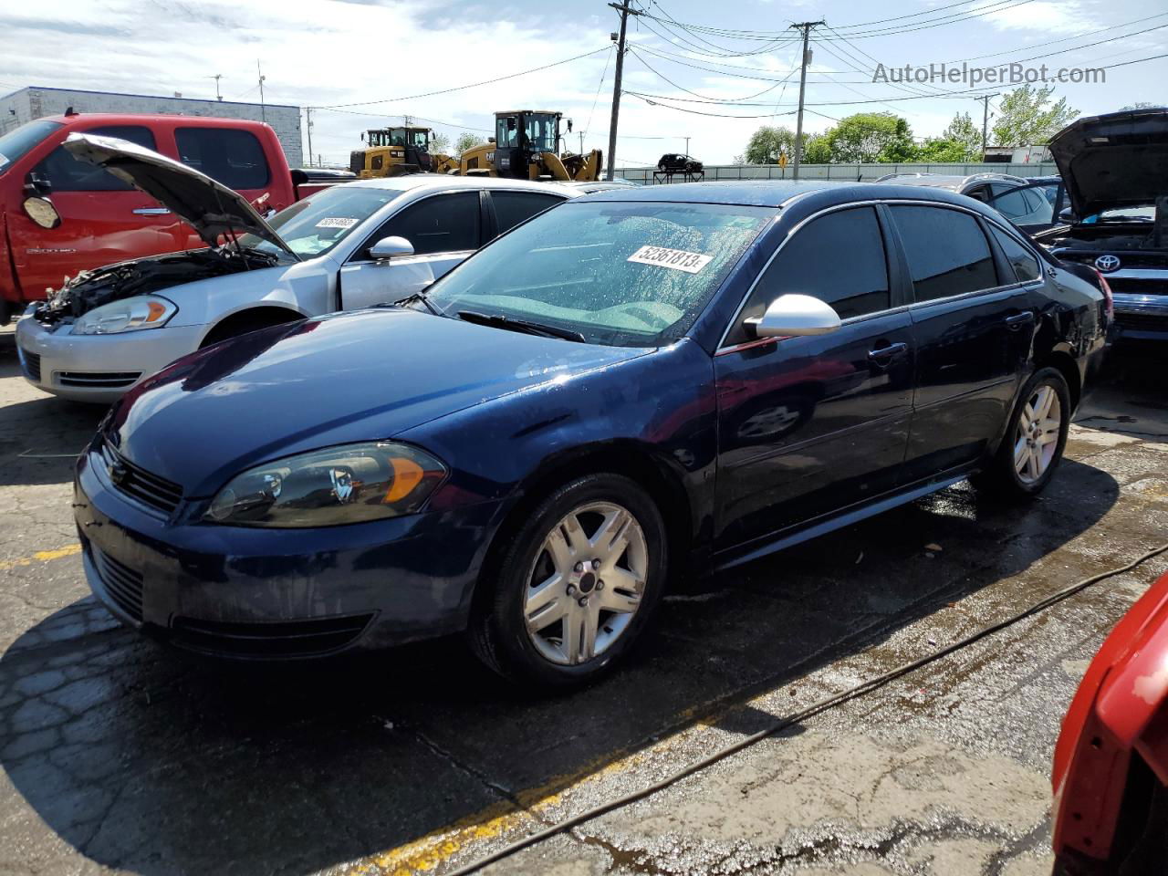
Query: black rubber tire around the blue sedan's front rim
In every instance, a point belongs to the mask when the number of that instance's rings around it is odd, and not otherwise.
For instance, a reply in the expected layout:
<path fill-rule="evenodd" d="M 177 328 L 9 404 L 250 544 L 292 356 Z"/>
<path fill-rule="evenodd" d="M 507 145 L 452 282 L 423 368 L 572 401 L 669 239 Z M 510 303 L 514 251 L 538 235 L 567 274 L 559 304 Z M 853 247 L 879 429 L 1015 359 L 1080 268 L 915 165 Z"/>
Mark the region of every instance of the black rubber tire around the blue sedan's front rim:
<path fill-rule="evenodd" d="M 605 651 L 576 665 L 552 662 L 527 631 L 524 596 L 544 538 L 564 517 L 590 502 L 627 509 L 640 526 L 647 549 L 647 573 L 640 605 L 624 632 Z M 557 690 L 595 681 L 618 663 L 637 642 L 660 599 L 668 573 L 668 535 L 656 503 L 635 481 L 619 474 L 588 474 L 554 489 L 509 530 L 500 531 L 492 561 L 484 568 L 470 625 L 479 659 L 508 681 L 533 689 Z"/>

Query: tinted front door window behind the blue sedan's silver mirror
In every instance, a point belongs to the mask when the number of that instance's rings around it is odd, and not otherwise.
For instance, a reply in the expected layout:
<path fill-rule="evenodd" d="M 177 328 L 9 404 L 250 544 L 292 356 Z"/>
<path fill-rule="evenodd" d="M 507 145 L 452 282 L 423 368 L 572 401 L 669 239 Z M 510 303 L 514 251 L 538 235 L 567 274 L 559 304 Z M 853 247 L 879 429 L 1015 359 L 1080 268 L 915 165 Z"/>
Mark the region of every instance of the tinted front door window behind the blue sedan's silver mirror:
<path fill-rule="evenodd" d="M 800 229 L 759 278 L 726 342 L 746 341 L 743 321 L 762 317 L 776 298 L 791 292 L 826 301 L 840 319 L 891 307 L 888 262 L 876 210 L 871 207 L 839 210 Z"/>

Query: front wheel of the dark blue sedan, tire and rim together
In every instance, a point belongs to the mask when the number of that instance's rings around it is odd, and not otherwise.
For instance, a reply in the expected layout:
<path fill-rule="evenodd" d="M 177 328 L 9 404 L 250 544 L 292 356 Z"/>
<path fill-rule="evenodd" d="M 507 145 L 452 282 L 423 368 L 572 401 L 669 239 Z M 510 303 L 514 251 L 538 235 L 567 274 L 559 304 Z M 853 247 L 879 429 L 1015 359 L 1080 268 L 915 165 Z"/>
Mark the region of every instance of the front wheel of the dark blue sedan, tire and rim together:
<path fill-rule="evenodd" d="M 510 533 L 480 580 L 471 641 L 510 681 L 564 688 L 609 669 L 645 628 L 666 576 L 665 522 L 618 474 L 554 491 Z"/>

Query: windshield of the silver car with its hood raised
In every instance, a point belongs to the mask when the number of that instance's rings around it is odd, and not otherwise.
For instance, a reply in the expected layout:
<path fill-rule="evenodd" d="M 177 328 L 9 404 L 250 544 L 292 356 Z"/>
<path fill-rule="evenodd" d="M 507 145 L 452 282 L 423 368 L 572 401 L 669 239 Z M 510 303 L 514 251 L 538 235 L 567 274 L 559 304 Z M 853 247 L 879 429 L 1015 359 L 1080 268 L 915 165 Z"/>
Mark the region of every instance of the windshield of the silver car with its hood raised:
<path fill-rule="evenodd" d="M 398 189 L 391 188 L 332 186 L 280 210 L 267 224 L 298 256 L 322 256 L 399 194 Z M 284 252 L 258 235 L 244 235 L 239 245 L 273 256 Z"/>

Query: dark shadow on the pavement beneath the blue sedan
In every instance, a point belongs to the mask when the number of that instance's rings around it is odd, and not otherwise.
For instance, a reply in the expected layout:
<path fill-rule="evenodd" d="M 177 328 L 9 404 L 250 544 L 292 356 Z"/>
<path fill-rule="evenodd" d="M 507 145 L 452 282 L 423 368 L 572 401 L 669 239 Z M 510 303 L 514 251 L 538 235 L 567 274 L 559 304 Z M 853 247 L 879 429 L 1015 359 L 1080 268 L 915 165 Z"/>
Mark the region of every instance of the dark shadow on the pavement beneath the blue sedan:
<path fill-rule="evenodd" d="M 450 640 L 279 669 L 192 662 L 82 599 L 0 658 L 0 764 L 99 864 L 314 871 L 484 823 L 533 788 L 566 787 L 719 703 L 867 648 L 1029 569 L 1118 494 L 1072 461 L 1026 508 L 958 485 L 667 597 L 625 668 L 554 698 L 506 688 Z M 738 712 L 728 729 L 764 719 Z"/>

